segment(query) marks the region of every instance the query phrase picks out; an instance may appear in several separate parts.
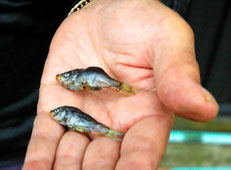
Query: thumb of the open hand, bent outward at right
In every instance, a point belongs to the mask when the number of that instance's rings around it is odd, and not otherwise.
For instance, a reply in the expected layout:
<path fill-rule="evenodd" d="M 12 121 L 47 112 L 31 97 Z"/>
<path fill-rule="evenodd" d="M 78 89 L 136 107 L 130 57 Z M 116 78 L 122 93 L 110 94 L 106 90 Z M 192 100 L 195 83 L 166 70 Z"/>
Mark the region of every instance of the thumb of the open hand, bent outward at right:
<path fill-rule="evenodd" d="M 155 39 L 153 67 L 158 95 L 181 117 L 211 120 L 217 115 L 218 104 L 200 85 L 193 32 L 178 15 L 173 17 L 160 23 L 160 33 Z"/>

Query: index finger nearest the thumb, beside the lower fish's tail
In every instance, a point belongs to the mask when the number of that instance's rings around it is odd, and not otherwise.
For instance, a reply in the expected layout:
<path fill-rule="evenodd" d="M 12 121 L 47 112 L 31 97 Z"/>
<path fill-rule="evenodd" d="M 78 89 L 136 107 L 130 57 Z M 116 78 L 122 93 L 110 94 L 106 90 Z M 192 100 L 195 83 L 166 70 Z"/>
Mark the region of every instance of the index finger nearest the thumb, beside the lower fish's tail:
<path fill-rule="evenodd" d="M 166 149 L 173 115 L 150 116 L 126 133 L 116 170 L 157 169 Z"/>

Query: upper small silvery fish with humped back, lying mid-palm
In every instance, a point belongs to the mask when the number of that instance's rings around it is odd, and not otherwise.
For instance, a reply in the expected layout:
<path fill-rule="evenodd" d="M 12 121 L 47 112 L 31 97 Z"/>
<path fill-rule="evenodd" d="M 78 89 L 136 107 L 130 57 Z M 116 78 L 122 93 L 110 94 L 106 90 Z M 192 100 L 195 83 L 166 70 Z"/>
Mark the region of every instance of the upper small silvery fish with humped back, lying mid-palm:
<path fill-rule="evenodd" d="M 56 80 L 63 87 L 73 91 L 109 88 L 126 95 L 136 94 L 133 87 L 111 78 L 100 67 L 88 67 L 64 72 L 56 75 Z"/>

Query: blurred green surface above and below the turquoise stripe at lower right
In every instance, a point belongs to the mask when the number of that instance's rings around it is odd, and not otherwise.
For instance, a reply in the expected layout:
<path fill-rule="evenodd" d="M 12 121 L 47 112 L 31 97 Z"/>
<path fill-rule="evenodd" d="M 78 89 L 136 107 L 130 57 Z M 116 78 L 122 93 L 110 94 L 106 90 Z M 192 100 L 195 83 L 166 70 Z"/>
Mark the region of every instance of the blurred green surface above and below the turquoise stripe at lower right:
<path fill-rule="evenodd" d="M 173 129 L 231 133 L 231 117 L 217 117 L 207 123 L 176 117 Z M 231 166 L 231 145 L 169 143 L 160 167 L 179 166 Z"/>

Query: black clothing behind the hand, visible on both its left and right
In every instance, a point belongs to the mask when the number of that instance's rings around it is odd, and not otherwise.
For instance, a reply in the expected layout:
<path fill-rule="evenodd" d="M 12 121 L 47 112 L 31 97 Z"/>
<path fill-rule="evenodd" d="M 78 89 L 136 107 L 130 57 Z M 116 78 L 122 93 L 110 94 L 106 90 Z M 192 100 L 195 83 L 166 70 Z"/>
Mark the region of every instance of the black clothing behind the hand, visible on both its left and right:
<path fill-rule="evenodd" d="M 73 3 L 0 0 L 0 167 L 24 159 L 49 44 Z M 165 3 L 192 26 L 202 83 L 230 113 L 230 1 Z"/>

